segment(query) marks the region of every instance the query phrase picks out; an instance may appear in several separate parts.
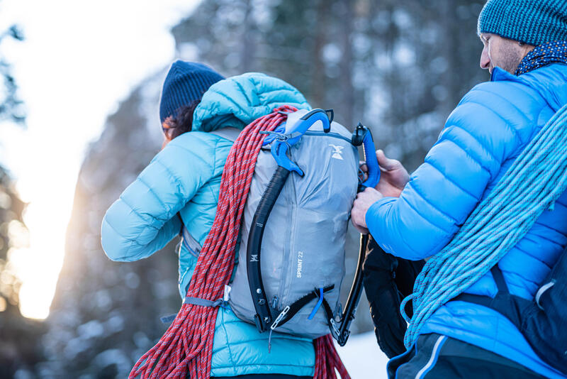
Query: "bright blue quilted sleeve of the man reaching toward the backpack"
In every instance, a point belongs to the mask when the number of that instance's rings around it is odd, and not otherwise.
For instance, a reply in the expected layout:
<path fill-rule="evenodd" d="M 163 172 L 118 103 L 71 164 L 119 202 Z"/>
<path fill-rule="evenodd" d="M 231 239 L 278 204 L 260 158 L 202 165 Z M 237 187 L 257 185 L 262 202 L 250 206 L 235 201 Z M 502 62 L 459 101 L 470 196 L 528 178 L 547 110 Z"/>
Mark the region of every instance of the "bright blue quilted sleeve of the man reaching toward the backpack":
<path fill-rule="evenodd" d="M 366 213 L 369 231 L 387 253 L 410 260 L 438 253 L 522 144 L 515 126 L 525 123 L 524 114 L 478 87 L 451 113 L 400 197 L 385 197 Z"/>

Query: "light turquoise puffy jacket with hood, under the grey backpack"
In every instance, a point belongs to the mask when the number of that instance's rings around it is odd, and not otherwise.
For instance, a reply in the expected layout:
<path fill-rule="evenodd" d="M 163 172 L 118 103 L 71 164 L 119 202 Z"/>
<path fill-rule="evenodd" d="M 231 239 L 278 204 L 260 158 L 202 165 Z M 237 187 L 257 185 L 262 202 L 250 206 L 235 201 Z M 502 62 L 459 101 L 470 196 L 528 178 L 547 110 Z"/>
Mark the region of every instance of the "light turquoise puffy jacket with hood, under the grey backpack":
<path fill-rule="evenodd" d="M 310 109 L 303 95 L 274 77 L 249 73 L 213 84 L 195 110 L 193 131 L 158 153 L 104 216 L 101 237 L 108 258 L 132 261 L 163 248 L 181 230 L 181 221 L 203 245 L 215 218 L 220 177 L 232 142 L 213 131 L 242 129 L 276 106 Z M 197 258 L 184 244 L 179 251 L 179 292 L 184 298 Z M 313 376 L 313 341 L 268 334 L 220 308 L 213 341 L 211 375 L 276 373 Z"/>

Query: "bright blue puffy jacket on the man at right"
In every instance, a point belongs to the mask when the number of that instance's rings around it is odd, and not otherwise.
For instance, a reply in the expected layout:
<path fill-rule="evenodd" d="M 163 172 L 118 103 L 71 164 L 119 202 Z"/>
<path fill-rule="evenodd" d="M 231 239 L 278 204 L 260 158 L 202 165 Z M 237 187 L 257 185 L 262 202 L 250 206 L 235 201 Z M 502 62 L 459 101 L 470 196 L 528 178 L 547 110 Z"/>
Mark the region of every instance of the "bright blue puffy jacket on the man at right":
<path fill-rule="evenodd" d="M 451 113 L 439 140 L 413 172 L 399 199 L 386 197 L 366 214 L 388 253 L 412 260 L 438 253 L 476 205 L 553 114 L 567 104 L 567 65 L 554 64 L 516 77 L 495 68 Z M 567 194 L 542 214 L 498 264 L 510 292 L 532 300 L 567 245 Z M 493 297 L 490 273 L 466 290 Z M 448 302 L 422 334 L 439 333 L 510 358 L 549 378 L 563 378 L 541 361 L 520 331 L 492 309 Z"/>

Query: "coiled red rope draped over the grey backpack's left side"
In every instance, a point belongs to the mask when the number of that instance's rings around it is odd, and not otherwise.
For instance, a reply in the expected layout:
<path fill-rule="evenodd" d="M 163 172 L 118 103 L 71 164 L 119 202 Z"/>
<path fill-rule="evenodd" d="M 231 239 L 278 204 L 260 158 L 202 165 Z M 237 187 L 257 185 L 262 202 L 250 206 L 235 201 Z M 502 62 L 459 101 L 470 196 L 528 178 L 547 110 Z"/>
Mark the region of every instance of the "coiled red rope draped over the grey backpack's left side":
<path fill-rule="evenodd" d="M 280 106 L 274 113 L 260 117 L 240 133 L 230 149 L 220 182 L 220 195 L 213 227 L 203 243 L 187 296 L 206 300 L 223 297 L 235 261 L 235 246 L 240 230 L 254 165 L 265 134 L 283 121 L 286 112 L 297 109 Z M 281 113 L 280 113 L 281 112 Z M 183 304 L 174 322 L 157 344 L 135 364 L 128 378 L 189 378 L 210 377 L 213 336 L 218 307 Z M 315 379 L 336 379 L 335 368 L 342 379 L 350 379 L 330 335 L 315 344 Z"/>

